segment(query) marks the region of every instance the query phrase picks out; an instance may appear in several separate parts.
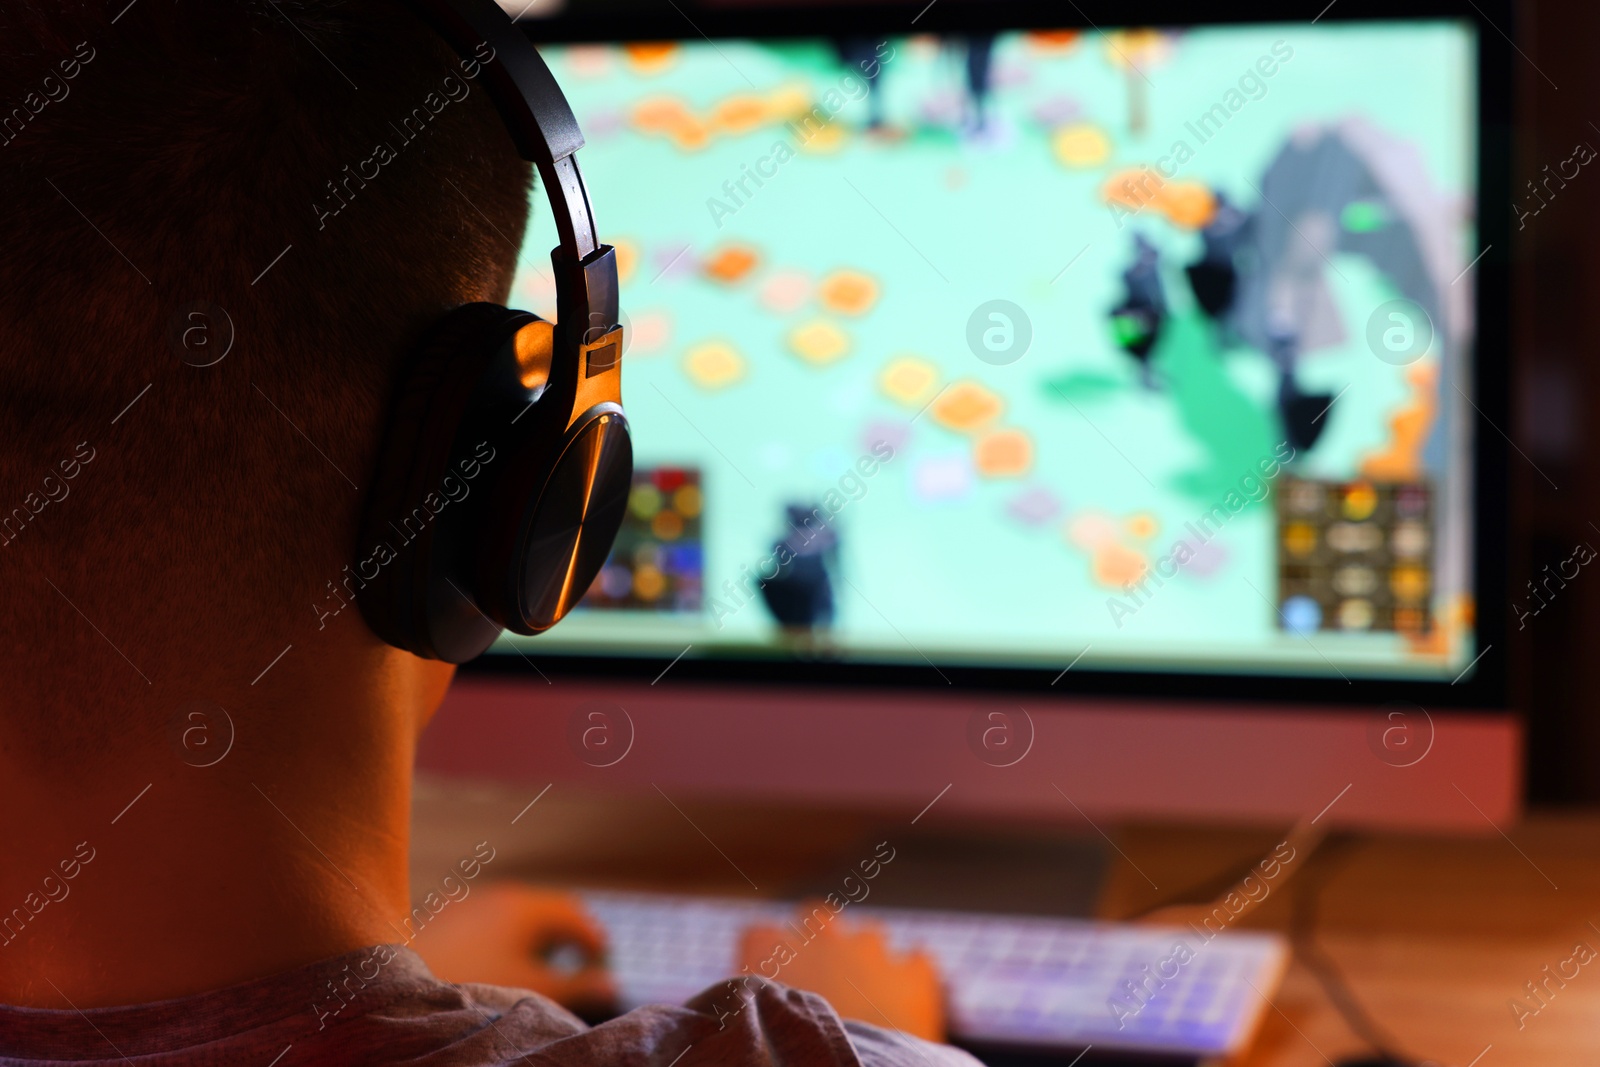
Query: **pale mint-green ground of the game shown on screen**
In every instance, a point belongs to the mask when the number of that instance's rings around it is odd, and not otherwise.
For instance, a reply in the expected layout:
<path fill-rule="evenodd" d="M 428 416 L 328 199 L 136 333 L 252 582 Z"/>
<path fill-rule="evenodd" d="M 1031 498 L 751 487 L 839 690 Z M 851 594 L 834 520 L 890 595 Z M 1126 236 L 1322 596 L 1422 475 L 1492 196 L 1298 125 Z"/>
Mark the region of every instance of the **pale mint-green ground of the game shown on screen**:
<path fill-rule="evenodd" d="M 1206 144 L 1184 128 L 1237 85 L 1238 75 L 1285 42 L 1293 59 L 1267 78 Z M 885 64 L 885 114 L 893 125 L 915 120 L 930 94 L 960 86 L 962 67 L 930 40 L 896 38 Z M 618 115 L 653 94 L 677 94 L 698 110 L 752 91 L 805 82 L 821 98 L 845 69 L 826 42 L 688 42 L 674 66 L 642 77 L 610 50 L 608 74 L 586 77 L 566 48 L 546 54 L 573 109 L 590 133 L 579 158 L 606 240 L 640 248 L 638 267 L 622 286 L 622 307 L 638 318 L 672 315 L 669 344 L 624 358 L 624 397 L 642 466 L 683 464 L 702 470 L 706 488 L 706 592 L 722 597 L 725 579 L 771 552 L 782 534 L 784 504 L 821 498 L 866 451 L 866 429 L 904 421 L 910 411 L 885 397 L 877 378 L 888 360 L 915 354 L 946 381 L 971 378 L 1005 397 L 1003 422 L 1026 429 L 1035 466 L 1021 480 L 984 482 L 957 502 L 923 502 L 912 472 L 928 458 L 968 453 L 970 445 L 931 418 L 917 421 L 907 445 L 869 480 L 867 493 L 838 515 L 842 569 L 834 640 L 853 659 L 966 661 L 1066 665 L 1088 648 L 1083 667 L 1134 670 L 1266 670 L 1331 675 L 1451 677 L 1470 659 L 1470 635 L 1448 662 L 1416 659 L 1392 635 L 1317 633 L 1310 643 L 1277 625 L 1274 506 L 1251 504 L 1221 534 L 1227 565 L 1210 579 L 1181 574 L 1133 617 L 1114 625 L 1094 584 L 1086 552 L 1062 537 L 1062 518 L 1026 526 L 1005 514 L 1030 485 L 1048 486 L 1067 515 L 1099 509 L 1114 520 L 1149 512 L 1160 533 L 1149 558 L 1168 550 L 1186 522 L 1218 502 L 1258 458 L 1282 440 L 1274 413 L 1275 371 L 1248 349 L 1219 354 L 1182 278 L 1200 238 L 1154 211 L 1117 229 L 1098 194 L 1115 170 L 1154 163 L 1182 138 L 1195 149 L 1178 174 L 1221 187 L 1235 203 L 1258 203 L 1245 182 L 1264 168 L 1301 123 L 1365 115 L 1414 142 L 1429 179 L 1462 198 L 1459 267 L 1477 254 L 1470 219 L 1475 174 L 1475 75 L 1470 30 L 1454 22 L 1283 24 L 1186 32 L 1170 59 L 1149 72 L 1149 131 L 1128 130 L 1128 75 L 1107 59 L 1093 32 L 1061 58 L 1030 51 L 1021 35 L 1002 35 L 995 69 L 1024 67 L 1029 82 L 998 85 L 992 107 L 1011 131 L 990 144 L 952 130 L 922 130 L 885 144 L 864 134 L 867 104 L 851 101 L 835 117 L 846 141 L 834 154 L 800 152 L 718 229 L 707 210 L 725 179 L 766 155 L 779 128 L 718 136 L 699 152 L 642 136 Z M 749 82 L 746 82 L 749 78 Z M 1045 98 L 1070 94 L 1082 118 L 1110 138 L 1104 166 L 1062 166 L 1050 133 L 1030 117 Z M 952 189 L 952 168 L 965 184 Z M 547 274 L 554 246 L 549 206 L 533 195 L 534 222 L 523 245 L 514 299 L 546 315 L 554 301 L 536 272 Z M 898 230 L 898 232 L 896 232 Z M 1122 296 L 1131 234 L 1163 253 L 1171 317 L 1157 349 L 1163 387 L 1141 386 L 1133 360 L 1112 341 L 1107 312 Z M 694 269 L 656 277 L 659 250 L 691 245 L 686 261 L 728 242 L 754 246 L 762 266 L 744 285 L 726 288 Z M 1082 253 L 1082 254 L 1080 254 Z M 1062 269 L 1072 262 L 1070 269 Z M 685 267 L 683 262 L 678 267 Z M 813 301 L 779 317 L 757 293 L 773 269 L 795 267 L 813 278 L 864 270 L 882 296 L 862 318 L 832 317 Z M 1344 478 L 1384 443 L 1386 422 L 1408 395 L 1403 370 L 1379 362 L 1365 344 L 1365 314 L 1394 296 L 1365 261 L 1341 256 L 1330 272 L 1338 306 L 1349 312 L 1349 339 L 1302 363 L 1307 390 L 1347 389 L 1330 426 L 1299 466 L 1306 477 Z M 941 278 L 941 274 L 944 275 Z M 1053 282 L 1054 278 L 1054 282 Z M 1024 358 L 990 366 L 966 347 L 973 309 L 1003 298 L 1032 320 Z M 784 336 L 813 317 L 834 318 L 853 339 L 843 360 L 814 368 L 790 355 Z M 707 392 L 683 373 L 688 347 L 723 339 L 747 360 L 746 378 Z M 1072 403 L 1067 405 L 1062 395 Z M 1459 397 L 1442 403 L 1464 406 Z M 1074 406 L 1077 410 L 1074 410 Z M 1080 414 L 1082 413 L 1082 414 Z M 715 446 L 715 448 L 714 448 Z M 726 459 L 718 456 L 725 453 Z M 730 462 L 731 461 L 731 462 Z M 742 475 L 741 475 L 742 472 Z M 1141 477 L 1141 474 L 1146 477 Z M 1469 478 L 1461 466 L 1430 472 Z M 749 482 L 746 480 L 749 478 Z M 1154 486 L 1152 486 L 1154 483 Z M 1438 576 L 1466 589 L 1466 576 Z M 1259 592 L 1258 592 L 1259 590 Z M 758 603 L 739 608 L 723 629 L 704 617 L 578 611 L 560 627 L 518 646 L 526 651 L 677 654 L 770 653 L 779 643 Z M 1314 645 L 1314 646 L 1309 646 Z M 1336 667 L 1334 667 L 1336 665 Z"/>

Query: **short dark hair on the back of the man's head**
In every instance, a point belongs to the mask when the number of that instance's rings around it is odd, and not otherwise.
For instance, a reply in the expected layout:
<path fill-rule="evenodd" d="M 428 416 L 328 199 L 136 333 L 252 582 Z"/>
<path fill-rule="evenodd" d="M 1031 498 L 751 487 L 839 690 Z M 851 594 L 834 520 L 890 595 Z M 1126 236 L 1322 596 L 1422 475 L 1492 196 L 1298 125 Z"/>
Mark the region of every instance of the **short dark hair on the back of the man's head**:
<path fill-rule="evenodd" d="M 477 75 L 381 0 L 0 8 L 13 656 L 139 686 L 315 622 L 403 354 L 509 293 L 531 173 Z M 186 605 L 237 640 L 166 648 L 202 637 Z"/>

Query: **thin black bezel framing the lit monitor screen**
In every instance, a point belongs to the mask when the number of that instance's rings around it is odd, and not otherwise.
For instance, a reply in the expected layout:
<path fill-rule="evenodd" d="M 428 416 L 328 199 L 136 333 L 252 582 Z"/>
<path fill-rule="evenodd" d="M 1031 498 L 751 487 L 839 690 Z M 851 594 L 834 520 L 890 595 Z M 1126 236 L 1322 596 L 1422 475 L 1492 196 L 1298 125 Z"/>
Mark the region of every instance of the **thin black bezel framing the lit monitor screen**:
<path fill-rule="evenodd" d="M 848 5 L 848 18 L 830 27 L 830 16 L 845 16 L 843 5 L 672 5 L 650 11 L 576 8 L 557 18 L 525 19 L 522 26 L 541 45 L 598 43 L 616 40 L 702 40 L 702 38 L 827 38 L 838 34 L 910 35 L 923 32 L 1083 29 L 1101 26 L 1197 27 L 1222 24 L 1290 24 L 1282 5 L 1256 0 L 1234 3 L 1227 11 L 1208 11 L 1195 19 L 1190 3 L 1160 0 L 1138 6 L 1138 19 L 1126 8 L 1107 11 L 1106 3 L 1082 6 L 1035 3 L 974 3 L 936 0 L 931 5 Z M 920 10 L 920 14 L 918 14 Z M 912 16 L 915 21 L 912 22 Z M 1186 18 L 1189 16 L 1189 18 Z M 619 19 L 629 34 L 616 35 Z M 1474 336 L 1474 427 L 1472 488 L 1474 510 L 1474 630 L 1478 659 L 1454 681 L 1413 678 L 1344 678 L 1338 675 L 1242 673 L 1237 670 L 1133 670 L 1075 667 L 1062 673 L 1070 653 L 1059 665 L 973 667 L 939 662 L 840 662 L 800 659 L 774 651 L 771 656 L 741 657 L 683 656 L 674 661 L 675 683 L 726 681 L 739 685 L 805 686 L 821 693 L 834 688 L 950 693 L 966 689 L 974 696 L 1014 691 L 1048 691 L 1070 697 L 1139 697 L 1157 701 L 1226 702 L 1232 707 L 1282 704 L 1382 705 L 1413 702 L 1429 710 L 1504 709 L 1509 704 L 1509 619 L 1507 585 L 1509 539 L 1509 419 L 1510 370 L 1510 216 L 1490 205 L 1510 203 L 1512 158 L 1512 61 L 1514 45 L 1502 27 L 1512 26 L 1509 0 L 1336 0 L 1312 21 L 1408 22 L 1454 19 L 1477 27 L 1477 226 L 1488 250 L 1477 262 L 1474 290 L 1477 330 Z M 597 205 L 603 214 L 605 205 Z M 1493 595 L 1491 595 L 1493 592 Z M 518 654 L 522 653 L 522 654 Z M 667 661 L 661 656 L 619 656 L 605 653 L 539 653 L 538 648 L 491 649 L 466 665 L 470 675 L 517 677 L 533 683 L 557 677 L 638 680 L 662 677 Z M 1344 681 L 1344 685 L 1341 685 Z"/>

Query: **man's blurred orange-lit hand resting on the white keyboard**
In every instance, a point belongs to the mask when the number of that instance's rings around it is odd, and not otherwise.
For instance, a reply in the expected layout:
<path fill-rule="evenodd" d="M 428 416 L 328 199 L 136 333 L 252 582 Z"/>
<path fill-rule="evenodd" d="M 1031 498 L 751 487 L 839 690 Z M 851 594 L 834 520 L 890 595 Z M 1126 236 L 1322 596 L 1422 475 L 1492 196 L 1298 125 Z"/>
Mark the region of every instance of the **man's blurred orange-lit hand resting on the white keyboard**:
<path fill-rule="evenodd" d="M 816 910 L 829 913 L 819 904 L 803 915 Z M 872 925 L 846 925 L 837 917 L 811 941 L 790 926 L 752 926 L 739 945 L 739 965 L 819 993 L 845 1019 L 944 1040 L 944 995 L 933 961 L 920 952 L 890 952 L 883 931 Z"/>

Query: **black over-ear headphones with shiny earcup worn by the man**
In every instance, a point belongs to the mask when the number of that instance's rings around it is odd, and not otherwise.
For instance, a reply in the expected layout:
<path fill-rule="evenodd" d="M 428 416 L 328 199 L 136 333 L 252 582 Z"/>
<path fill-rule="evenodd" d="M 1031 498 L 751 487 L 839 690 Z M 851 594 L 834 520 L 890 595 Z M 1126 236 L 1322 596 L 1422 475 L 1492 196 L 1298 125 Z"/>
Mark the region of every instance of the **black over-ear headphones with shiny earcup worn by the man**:
<path fill-rule="evenodd" d="M 557 322 L 467 304 L 427 333 L 402 376 L 362 518 L 352 571 L 368 625 L 397 648 L 459 664 L 502 629 L 541 633 L 578 603 L 622 523 L 634 446 L 616 256 L 595 240 L 566 98 L 494 0 L 411 6 L 480 67 L 560 234 Z"/>

